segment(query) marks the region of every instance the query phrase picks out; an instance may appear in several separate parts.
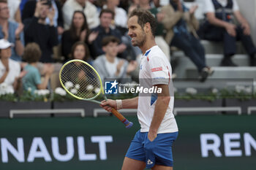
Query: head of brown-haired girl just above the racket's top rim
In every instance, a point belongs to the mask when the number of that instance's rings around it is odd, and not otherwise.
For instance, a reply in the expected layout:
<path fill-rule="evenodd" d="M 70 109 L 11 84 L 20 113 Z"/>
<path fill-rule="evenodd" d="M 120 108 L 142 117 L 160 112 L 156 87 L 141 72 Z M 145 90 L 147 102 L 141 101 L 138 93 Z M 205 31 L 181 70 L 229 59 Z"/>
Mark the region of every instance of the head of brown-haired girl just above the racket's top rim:
<path fill-rule="evenodd" d="M 75 42 L 71 50 L 71 59 L 79 59 L 92 63 L 87 45 L 84 42 Z"/>

